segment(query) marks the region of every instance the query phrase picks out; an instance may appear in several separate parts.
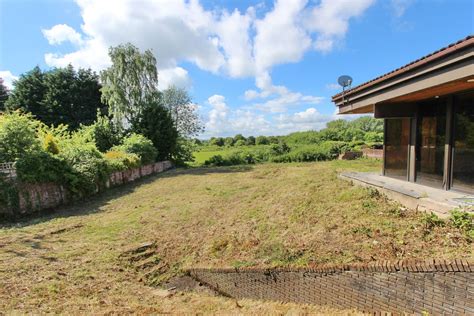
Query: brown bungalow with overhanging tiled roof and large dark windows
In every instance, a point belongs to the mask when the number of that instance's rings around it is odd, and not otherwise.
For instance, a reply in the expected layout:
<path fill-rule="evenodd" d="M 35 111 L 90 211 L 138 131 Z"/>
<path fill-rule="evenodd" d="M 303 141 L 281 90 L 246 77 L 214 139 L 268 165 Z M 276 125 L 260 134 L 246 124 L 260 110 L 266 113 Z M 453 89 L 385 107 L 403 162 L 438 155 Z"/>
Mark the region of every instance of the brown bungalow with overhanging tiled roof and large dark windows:
<path fill-rule="evenodd" d="M 332 101 L 340 114 L 384 119 L 382 176 L 474 193 L 474 36 Z"/>

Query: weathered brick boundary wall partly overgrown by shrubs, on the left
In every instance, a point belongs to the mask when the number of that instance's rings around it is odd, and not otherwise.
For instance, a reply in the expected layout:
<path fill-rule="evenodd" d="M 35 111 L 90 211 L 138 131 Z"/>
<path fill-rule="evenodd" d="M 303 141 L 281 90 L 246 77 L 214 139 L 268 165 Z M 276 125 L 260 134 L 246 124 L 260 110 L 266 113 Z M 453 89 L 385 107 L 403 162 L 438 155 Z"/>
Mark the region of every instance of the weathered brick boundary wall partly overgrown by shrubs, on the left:
<path fill-rule="evenodd" d="M 106 182 L 106 188 L 118 186 L 135 181 L 141 177 L 154 173 L 163 172 L 172 167 L 170 161 L 161 161 L 139 168 L 114 172 Z M 18 188 L 18 207 L 0 205 L 0 216 L 25 215 L 45 209 L 51 209 L 63 205 L 69 201 L 69 193 L 62 186 L 55 183 L 24 184 L 15 183 Z"/>

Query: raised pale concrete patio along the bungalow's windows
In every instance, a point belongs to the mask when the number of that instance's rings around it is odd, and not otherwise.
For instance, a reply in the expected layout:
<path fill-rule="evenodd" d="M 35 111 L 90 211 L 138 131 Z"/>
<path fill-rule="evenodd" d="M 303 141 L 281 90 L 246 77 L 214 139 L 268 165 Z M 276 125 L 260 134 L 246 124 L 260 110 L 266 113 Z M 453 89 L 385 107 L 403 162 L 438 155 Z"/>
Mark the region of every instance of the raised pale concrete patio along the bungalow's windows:
<path fill-rule="evenodd" d="M 459 207 L 474 213 L 474 196 L 462 192 L 431 188 L 376 173 L 344 172 L 340 174 L 340 178 L 357 185 L 375 188 L 407 208 L 434 212 L 440 217 L 449 216 L 449 211 Z"/>

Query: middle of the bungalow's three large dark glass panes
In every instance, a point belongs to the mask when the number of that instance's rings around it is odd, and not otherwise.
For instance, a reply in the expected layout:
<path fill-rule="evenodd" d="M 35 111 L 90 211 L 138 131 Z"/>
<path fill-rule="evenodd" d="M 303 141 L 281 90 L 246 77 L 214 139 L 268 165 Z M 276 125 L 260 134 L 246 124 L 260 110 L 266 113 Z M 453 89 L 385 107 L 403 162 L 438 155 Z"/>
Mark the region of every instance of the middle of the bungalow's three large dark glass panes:
<path fill-rule="evenodd" d="M 443 187 L 446 100 L 419 105 L 416 139 L 416 182 Z"/>

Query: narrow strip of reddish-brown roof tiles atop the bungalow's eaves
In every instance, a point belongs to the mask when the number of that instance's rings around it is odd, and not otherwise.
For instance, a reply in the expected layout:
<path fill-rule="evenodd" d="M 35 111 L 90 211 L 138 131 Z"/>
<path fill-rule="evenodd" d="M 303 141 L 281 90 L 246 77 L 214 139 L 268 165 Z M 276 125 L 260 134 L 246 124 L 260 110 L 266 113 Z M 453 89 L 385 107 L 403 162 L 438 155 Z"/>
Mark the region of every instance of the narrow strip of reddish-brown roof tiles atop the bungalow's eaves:
<path fill-rule="evenodd" d="M 426 63 L 429 63 L 429 62 L 431 62 L 431 61 L 433 61 L 433 60 L 436 60 L 436 59 L 438 59 L 438 58 L 440 58 L 440 57 L 443 57 L 443 56 L 445 56 L 445 55 L 451 54 L 451 53 L 453 53 L 453 52 L 455 52 L 455 51 L 457 51 L 457 50 L 459 50 L 459 49 L 461 49 L 461 48 L 464 48 L 464 47 L 466 47 L 466 46 L 473 45 L 473 44 L 474 44 L 474 35 L 469 35 L 469 36 L 467 36 L 466 38 L 464 38 L 464 39 L 462 39 L 462 40 L 460 40 L 460 41 L 458 41 L 458 42 L 456 42 L 456 43 L 453 43 L 453 44 L 451 44 L 451 45 L 448 45 L 448 46 L 446 46 L 446 47 L 443 47 L 443 48 L 441 48 L 441 49 L 439 49 L 439 50 L 437 50 L 437 51 L 435 51 L 435 52 L 433 52 L 433 53 L 431 53 L 431 54 L 429 54 L 429 55 L 426 55 L 426 56 L 421 57 L 421 58 L 419 58 L 419 59 L 417 59 L 417 60 L 415 60 L 415 61 L 412 61 L 411 63 L 406 64 L 405 66 L 402 66 L 402 67 L 400 67 L 400 68 L 397 68 L 397 69 L 395 69 L 395 70 L 393 70 L 393 71 L 391 71 L 391 72 L 388 72 L 388 73 L 386 73 L 386 74 L 384 74 L 384 75 L 382 75 L 382 76 L 379 76 L 379 77 L 377 77 L 377 78 L 375 78 L 375 79 L 372 79 L 372 80 L 367 81 L 367 82 L 365 82 L 365 83 L 363 83 L 363 84 L 360 84 L 360 85 L 358 85 L 358 86 L 356 86 L 356 87 L 354 87 L 354 88 L 352 88 L 352 89 L 349 89 L 349 90 L 345 91 L 345 95 L 348 95 L 348 94 L 351 94 L 351 93 L 354 93 L 354 92 L 363 90 L 363 89 L 365 89 L 365 88 L 368 88 L 368 87 L 370 87 L 370 86 L 373 86 L 373 85 L 375 85 L 375 84 L 377 84 L 377 83 L 380 83 L 380 82 L 382 82 L 382 81 L 385 81 L 385 80 L 387 80 L 387 79 L 393 78 L 393 77 L 395 77 L 395 76 L 398 76 L 398 75 L 400 75 L 400 74 L 402 74 L 402 73 L 404 73 L 404 72 L 407 72 L 407 71 L 412 70 L 412 69 L 414 69 L 414 68 L 420 67 L 420 66 L 422 66 L 422 65 L 424 65 L 424 64 L 426 64 Z M 340 93 L 334 95 L 334 96 L 332 97 L 332 100 L 335 101 L 335 100 L 337 100 L 338 98 L 340 98 L 341 96 L 342 96 L 342 92 L 340 92 Z"/>

